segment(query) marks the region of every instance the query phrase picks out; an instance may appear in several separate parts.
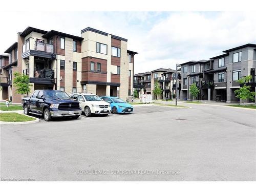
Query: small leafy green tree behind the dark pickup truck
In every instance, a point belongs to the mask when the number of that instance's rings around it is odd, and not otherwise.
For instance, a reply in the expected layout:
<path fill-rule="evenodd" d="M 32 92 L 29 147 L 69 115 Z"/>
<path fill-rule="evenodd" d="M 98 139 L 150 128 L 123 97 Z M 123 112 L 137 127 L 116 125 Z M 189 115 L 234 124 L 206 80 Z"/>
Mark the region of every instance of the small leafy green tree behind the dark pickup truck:
<path fill-rule="evenodd" d="M 16 87 L 16 93 L 27 94 L 30 92 L 29 76 L 20 74 L 18 72 L 14 73 L 13 86 Z"/>

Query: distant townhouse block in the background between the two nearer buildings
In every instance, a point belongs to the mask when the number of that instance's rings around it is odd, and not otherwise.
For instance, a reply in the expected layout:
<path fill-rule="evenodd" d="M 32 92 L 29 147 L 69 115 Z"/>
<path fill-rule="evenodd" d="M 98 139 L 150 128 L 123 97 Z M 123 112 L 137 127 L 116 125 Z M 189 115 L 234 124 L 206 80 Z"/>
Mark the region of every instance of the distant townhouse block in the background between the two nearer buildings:
<path fill-rule="evenodd" d="M 180 70 L 178 71 L 178 97 L 180 97 Z M 152 94 L 155 98 L 153 90 L 155 83 L 159 83 L 162 89 L 162 94 L 158 96 L 159 99 L 171 99 L 176 95 L 176 71 L 172 69 L 156 69 L 151 72 L 138 73 L 134 75 L 134 89 L 141 94 Z"/>

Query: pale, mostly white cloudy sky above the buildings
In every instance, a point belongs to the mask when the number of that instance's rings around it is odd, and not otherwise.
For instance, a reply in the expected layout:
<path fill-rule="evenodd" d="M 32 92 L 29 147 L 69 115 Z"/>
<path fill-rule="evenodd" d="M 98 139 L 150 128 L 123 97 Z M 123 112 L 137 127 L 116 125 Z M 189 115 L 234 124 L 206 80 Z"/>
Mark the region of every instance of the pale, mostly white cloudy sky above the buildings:
<path fill-rule="evenodd" d="M 0 13 L 1 18 L 5 15 Z M 28 26 L 77 36 L 89 26 L 128 39 L 128 49 L 139 52 L 135 57 L 135 73 L 175 69 L 176 63 L 208 59 L 223 50 L 256 43 L 253 12 L 13 12 L 9 15 L 15 18 L 15 25 L 5 23 L 8 30 L 1 31 L 0 53 L 17 40 L 17 32 Z"/>

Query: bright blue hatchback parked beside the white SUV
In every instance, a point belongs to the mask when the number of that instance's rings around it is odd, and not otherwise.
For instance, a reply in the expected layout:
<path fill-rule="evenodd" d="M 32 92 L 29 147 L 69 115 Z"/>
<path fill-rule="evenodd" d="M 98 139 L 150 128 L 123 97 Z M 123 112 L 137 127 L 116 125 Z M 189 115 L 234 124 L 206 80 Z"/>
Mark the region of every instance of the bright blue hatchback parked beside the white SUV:
<path fill-rule="evenodd" d="M 103 101 L 110 103 L 111 111 L 113 114 L 133 112 L 133 106 L 118 97 L 104 96 L 100 98 Z"/>

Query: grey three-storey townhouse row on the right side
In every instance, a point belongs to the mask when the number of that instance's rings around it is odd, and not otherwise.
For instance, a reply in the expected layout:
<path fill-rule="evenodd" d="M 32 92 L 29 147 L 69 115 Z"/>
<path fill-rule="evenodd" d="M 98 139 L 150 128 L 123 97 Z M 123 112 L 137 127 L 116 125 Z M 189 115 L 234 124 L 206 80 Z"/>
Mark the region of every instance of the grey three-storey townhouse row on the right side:
<path fill-rule="evenodd" d="M 181 99 L 193 99 L 191 84 L 200 89 L 199 100 L 239 102 L 234 94 L 240 88 L 238 79 L 252 76 L 251 90 L 255 91 L 256 44 L 246 44 L 223 51 L 209 60 L 188 61 L 181 67 Z"/>

